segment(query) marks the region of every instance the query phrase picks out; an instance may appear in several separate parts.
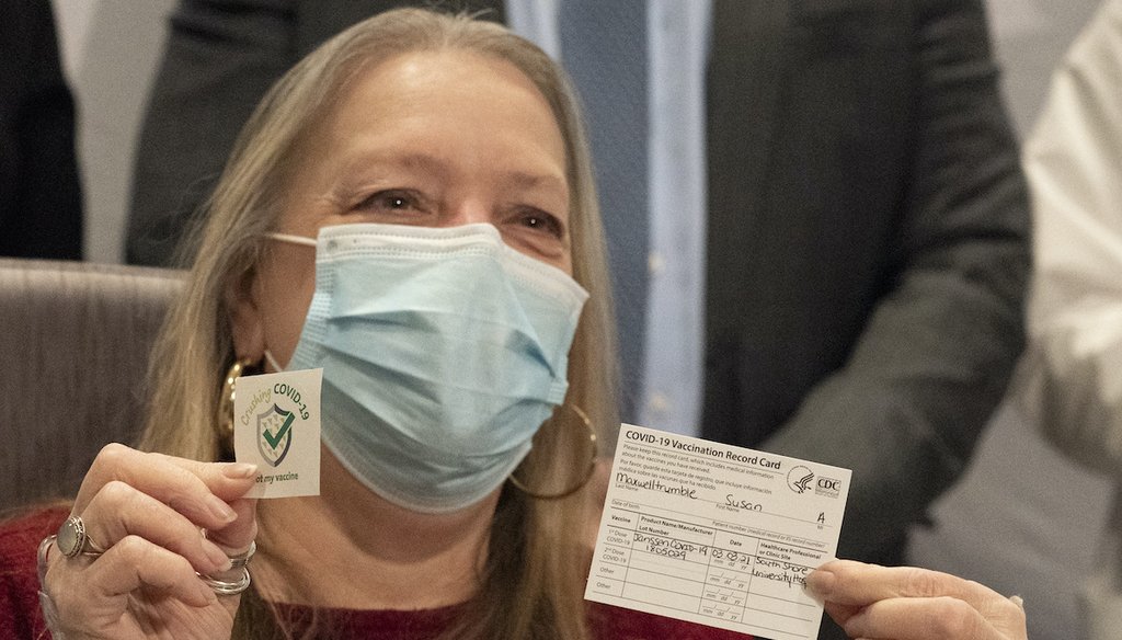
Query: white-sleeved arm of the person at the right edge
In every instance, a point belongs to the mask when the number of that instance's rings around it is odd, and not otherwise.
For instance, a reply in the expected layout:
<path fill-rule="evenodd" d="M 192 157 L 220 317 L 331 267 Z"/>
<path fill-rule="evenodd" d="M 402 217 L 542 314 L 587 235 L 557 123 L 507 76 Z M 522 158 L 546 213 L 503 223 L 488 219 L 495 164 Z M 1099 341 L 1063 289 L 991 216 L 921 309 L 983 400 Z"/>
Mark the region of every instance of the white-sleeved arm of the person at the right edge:
<path fill-rule="evenodd" d="M 1122 482 L 1122 1 L 1100 10 L 1057 71 L 1026 172 L 1030 410 L 1059 448 Z"/>

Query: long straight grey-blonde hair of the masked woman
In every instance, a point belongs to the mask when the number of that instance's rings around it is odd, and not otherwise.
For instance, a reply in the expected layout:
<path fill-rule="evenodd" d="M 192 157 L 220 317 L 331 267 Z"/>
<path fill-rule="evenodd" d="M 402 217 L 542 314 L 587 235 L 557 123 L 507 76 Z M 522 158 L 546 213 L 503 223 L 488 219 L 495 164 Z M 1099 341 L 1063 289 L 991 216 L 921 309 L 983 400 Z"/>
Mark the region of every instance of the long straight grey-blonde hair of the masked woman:
<path fill-rule="evenodd" d="M 572 203 L 573 277 L 590 293 L 570 351 L 567 402 L 585 410 L 610 450 L 618 426 L 611 302 L 591 161 L 574 92 L 549 56 L 502 26 L 420 9 L 381 13 L 339 34 L 280 79 L 247 122 L 208 203 L 193 268 L 154 351 L 155 391 L 141 448 L 219 459 L 223 444 L 215 430 L 218 395 L 234 359 L 227 292 L 254 276 L 261 234 L 277 225 L 285 177 L 295 171 L 304 136 L 364 70 L 404 53 L 444 49 L 513 64 L 537 86 L 557 119 L 565 141 Z M 551 464 L 539 459 L 523 465 L 518 477 L 528 486 L 571 475 L 563 467 L 579 457 L 571 451 L 585 447 L 588 438 L 583 428 L 543 428 L 540 436 L 535 449 L 555 455 Z M 574 524 L 591 515 L 594 500 L 587 494 L 586 488 L 563 500 L 534 500 L 508 483 L 480 576 L 481 606 L 470 607 L 478 615 L 462 623 L 458 637 L 588 637 L 582 600 L 587 569 L 585 563 L 573 561 L 574 554 L 587 559 L 580 540 L 586 529 Z"/>

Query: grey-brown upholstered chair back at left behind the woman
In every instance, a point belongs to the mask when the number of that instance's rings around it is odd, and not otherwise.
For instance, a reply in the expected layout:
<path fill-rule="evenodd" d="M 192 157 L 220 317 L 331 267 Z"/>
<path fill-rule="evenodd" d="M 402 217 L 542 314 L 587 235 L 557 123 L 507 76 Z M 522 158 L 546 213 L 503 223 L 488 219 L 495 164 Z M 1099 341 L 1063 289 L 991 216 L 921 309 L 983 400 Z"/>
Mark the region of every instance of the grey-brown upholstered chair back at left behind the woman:
<path fill-rule="evenodd" d="M 102 446 L 136 439 L 148 351 L 181 278 L 0 259 L 0 515 L 73 496 Z"/>

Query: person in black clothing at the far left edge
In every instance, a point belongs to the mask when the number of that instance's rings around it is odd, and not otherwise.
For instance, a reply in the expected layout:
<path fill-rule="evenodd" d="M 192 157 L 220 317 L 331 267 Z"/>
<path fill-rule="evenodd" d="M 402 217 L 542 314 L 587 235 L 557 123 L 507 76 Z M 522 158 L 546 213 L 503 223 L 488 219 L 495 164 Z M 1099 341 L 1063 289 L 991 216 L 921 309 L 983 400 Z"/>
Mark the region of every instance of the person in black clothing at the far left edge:
<path fill-rule="evenodd" d="M 74 100 L 49 0 L 0 8 L 0 256 L 82 258 Z"/>

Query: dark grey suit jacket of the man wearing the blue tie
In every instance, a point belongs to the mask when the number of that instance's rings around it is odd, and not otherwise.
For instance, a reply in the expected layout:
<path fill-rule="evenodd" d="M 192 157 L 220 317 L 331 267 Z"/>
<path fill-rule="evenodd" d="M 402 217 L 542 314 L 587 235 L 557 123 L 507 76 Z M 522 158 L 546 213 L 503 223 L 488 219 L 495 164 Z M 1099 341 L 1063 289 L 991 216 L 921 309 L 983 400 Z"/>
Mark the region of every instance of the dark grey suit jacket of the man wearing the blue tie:
<path fill-rule="evenodd" d="M 130 259 L 167 260 L 200 200 L 185 181 L 209 185 L 284 68 L 398 3 L 184 2 L 139 149 Z M 206 13 L 222 4 L 256 10 L 219 28 Z M 899 561 L 1022 342 L 1026 188 L 981 2 L 714 10 L 703 433 L 852 468 L 839 555 Z"/>

